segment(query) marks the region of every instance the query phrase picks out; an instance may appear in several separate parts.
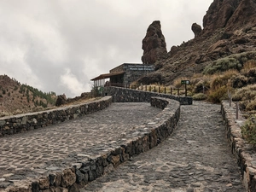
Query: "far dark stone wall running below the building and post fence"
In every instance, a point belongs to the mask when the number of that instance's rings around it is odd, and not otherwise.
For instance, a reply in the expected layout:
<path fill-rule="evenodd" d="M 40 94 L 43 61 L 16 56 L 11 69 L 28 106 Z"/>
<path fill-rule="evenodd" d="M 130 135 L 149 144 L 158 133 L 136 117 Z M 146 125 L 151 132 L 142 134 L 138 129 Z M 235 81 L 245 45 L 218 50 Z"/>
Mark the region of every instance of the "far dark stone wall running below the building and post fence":
<path fill-rule="evenodd" d="M 152 96 L 165 97 L 180 102 L 181 105 L 192 105 L 190 96 L 173 96 L 143 90 L 131 90 L 120 87 L 104 87 L 104 94 L 113 96 L 113 102 L 150 102 Z"/>

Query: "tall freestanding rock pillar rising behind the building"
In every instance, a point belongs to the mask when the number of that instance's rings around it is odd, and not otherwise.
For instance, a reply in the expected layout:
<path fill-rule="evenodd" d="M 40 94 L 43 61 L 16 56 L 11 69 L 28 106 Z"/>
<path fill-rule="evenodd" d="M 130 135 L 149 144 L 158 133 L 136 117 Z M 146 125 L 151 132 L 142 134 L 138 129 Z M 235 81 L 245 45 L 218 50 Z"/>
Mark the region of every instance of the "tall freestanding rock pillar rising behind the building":
<path fill-rule="evenodd" d="M 155 20 L 148 26 L 146 37 L 143 38 L 143 64 L 154 64 L 166 54 L 166 39 L 162 34 L 160 21 Z"/>

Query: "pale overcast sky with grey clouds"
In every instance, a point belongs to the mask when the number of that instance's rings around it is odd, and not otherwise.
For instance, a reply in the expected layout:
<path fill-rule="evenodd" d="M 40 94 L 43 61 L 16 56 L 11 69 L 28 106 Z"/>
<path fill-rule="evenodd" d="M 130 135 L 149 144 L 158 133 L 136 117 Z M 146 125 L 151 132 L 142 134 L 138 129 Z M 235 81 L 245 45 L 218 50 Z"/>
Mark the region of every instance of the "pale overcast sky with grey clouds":
<path fill-rule="evenodd" d="M 160 20 L 167 51 L 194 38 L 213 0 L 1 0 L 0 75 L 67 97 L 123 63 L 142 63 Z"/>

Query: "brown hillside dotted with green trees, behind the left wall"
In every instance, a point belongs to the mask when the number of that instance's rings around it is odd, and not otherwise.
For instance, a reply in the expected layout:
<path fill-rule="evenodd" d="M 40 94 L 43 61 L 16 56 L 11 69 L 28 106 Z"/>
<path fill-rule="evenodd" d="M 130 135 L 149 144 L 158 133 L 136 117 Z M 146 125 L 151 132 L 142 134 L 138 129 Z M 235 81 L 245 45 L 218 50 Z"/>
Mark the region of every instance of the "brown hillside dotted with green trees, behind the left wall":
<path fill-rule="evenodd" d="M 40 111 L 55 106 L 54 92 L 43 93 L 26 84 L 20 84 L 7 75 L 0 75 L 0 116 Z"/>

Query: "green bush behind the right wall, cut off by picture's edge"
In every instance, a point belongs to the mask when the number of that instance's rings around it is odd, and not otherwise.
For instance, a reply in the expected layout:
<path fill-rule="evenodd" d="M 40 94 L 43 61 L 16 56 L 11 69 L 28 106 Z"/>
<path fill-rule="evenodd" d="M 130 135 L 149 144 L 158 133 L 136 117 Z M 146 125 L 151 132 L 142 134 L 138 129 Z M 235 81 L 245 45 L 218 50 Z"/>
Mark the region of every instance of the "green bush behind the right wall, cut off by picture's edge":
<path fill-rule="evenodd" d="M 253 116 L 255 119 L 255 117 Z M 245 125 L 241 126 L 241 135 L 248 143 L 256 144 L 256 123 L 252 119 L 247 119 Z"/>

